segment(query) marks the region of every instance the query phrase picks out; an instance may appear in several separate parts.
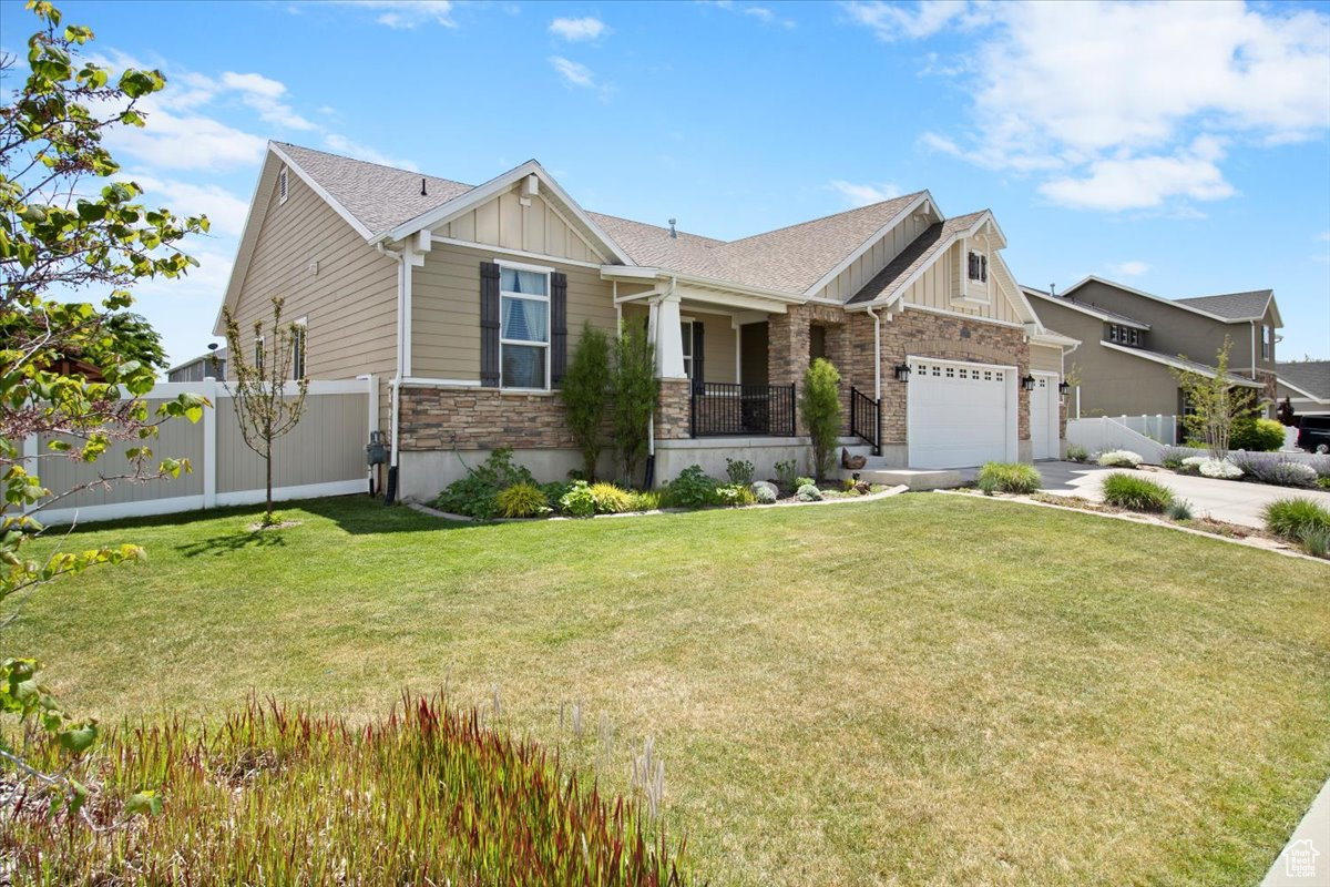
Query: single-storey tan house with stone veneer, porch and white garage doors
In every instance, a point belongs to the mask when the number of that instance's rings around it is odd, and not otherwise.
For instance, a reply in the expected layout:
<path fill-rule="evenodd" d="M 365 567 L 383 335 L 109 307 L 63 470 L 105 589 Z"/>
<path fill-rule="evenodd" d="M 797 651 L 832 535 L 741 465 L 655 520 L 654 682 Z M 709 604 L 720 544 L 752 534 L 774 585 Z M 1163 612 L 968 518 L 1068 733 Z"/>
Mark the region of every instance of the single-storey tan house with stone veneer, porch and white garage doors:
<path fill-rule="evenodd" d="M 496 447 L 543 479 L 580 464 L 555 388 L 585 323 L 654 342 L 657 483 L 726 456 L 806 469 L 795 398 L 823 355 L 875 464 L 1056 457 L 1075 342 L 1005 245 L 928 191 L 726 242 L 589 213 L 536 161 L 471 186 L 273 142 L 225 299 L 249 328 L 282 295 L 310 378 L 372 376 L 404 497 Z"/>

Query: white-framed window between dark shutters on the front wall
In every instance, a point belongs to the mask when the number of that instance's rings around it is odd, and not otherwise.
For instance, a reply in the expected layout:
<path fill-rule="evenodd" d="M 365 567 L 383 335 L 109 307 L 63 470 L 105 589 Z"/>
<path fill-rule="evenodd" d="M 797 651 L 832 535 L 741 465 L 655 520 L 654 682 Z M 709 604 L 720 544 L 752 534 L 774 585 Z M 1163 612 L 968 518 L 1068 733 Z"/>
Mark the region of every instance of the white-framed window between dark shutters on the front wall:
<path fill-rule="evenodd" d="M 549 387 L 549 271 L 499 266 L 499 367 L 504 388 Z"/>

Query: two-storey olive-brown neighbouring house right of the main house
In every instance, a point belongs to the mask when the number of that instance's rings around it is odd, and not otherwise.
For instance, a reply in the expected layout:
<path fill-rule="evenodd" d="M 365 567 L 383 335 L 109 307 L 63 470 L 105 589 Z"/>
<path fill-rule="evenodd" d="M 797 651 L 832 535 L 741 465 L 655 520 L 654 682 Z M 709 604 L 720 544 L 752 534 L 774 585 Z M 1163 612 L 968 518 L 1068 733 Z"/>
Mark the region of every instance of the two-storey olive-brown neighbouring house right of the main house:
<path fill-rule="evenodd" d="M 1271 408 L 1282 320 L 1270 290 L 1165 299 L 1097 277 L 1056 295 L 1021 289 L 1045 324 L 1083 343 L 1068 358 L 1080 383 L 1073 416 L 1185 415 L 1174 371 L 1214 378 L 1225 336 L 1233 343 L 1229 380 Z"/>

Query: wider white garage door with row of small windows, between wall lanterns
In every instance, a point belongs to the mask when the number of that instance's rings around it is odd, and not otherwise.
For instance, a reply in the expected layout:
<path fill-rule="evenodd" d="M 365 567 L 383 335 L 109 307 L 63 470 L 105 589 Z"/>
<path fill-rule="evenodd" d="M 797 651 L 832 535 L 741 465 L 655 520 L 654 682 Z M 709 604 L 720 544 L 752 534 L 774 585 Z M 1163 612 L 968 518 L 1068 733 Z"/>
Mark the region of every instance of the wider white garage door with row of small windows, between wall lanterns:
<path fill-rule="evenodd" d="M 982 363 L 910 359 L 911 468 L 962 468 L 1016 459 L 1016 371 Z"/>

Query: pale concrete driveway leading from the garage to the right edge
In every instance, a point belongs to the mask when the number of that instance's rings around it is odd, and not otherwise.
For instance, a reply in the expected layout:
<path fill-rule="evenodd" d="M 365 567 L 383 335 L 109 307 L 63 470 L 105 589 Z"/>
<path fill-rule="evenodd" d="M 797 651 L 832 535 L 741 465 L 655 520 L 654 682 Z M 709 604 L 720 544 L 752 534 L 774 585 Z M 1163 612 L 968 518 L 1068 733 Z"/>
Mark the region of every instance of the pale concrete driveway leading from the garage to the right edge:
<path fill-rule="evenodd" d="M 1075 461 L 1040 461 L 1035 467 L 1044 476 L 1044 492 L 1055 496 L 1080 496 L 1093 501 L 1104 499 L 1103 476 L 1105 473 L 1129 471 L 1128 468 L 1083 465 Z M 1197 517 L 1208 515 L 1230 524 L 1264 528 L 1265 520 L 1261 517 L 1261 511 L 1266 503 L 1289 496 L 1314 499 L 1330 508 L 1330 492 L 1321 489 L 1290 489 L 1289 487 L 1267 487 L 1266 484 L 1246 484 L 1236 480 L 1214 480 L 1168 472 L 1141 473 L 1164 484 L 1178 497 L 1190 501 L 1192 511 Z"/>

